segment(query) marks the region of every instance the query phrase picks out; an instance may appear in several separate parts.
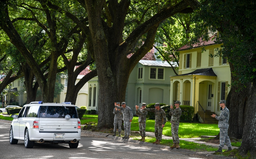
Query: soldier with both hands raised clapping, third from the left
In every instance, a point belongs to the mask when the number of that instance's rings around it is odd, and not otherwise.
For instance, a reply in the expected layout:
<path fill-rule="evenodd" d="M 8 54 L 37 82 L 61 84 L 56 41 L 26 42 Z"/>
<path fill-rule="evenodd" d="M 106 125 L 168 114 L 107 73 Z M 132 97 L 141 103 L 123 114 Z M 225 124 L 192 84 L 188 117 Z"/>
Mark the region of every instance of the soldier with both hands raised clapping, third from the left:
<path fill-rule="evenodd" d="M 146 107 L 146 103 L 142 103 L 142 108 Z M 141 139 L 138 139 L 139 141 L 145 141 L 146 137 L 146 117 L 147 117 L 147 111 L 146 110 L 140 110 L 139 106 L 136 107 L 136 115 L 139 116 L 138 122 L 139 122 L 139 129 L 141 134 Z"/>

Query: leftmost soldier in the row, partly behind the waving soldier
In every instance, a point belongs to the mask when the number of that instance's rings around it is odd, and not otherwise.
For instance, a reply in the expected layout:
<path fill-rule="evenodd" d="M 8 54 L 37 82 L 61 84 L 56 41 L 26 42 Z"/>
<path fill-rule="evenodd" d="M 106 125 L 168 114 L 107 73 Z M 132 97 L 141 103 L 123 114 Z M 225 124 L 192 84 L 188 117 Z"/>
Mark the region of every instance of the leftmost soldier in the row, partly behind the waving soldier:
<path fill-rule="evenodd" d="M 116 102 L 115 105 L 120 106 L 120 102 Z M 113 136 L 116 135 L 116 128 L 118 126 L 118 132 L 119 135 L 121 136 L 121 125 L 122 125 L 122 111 L 120 109 L 114 108 L 113 114 L 115 115 L 114 117 L 114 134 Z"/>

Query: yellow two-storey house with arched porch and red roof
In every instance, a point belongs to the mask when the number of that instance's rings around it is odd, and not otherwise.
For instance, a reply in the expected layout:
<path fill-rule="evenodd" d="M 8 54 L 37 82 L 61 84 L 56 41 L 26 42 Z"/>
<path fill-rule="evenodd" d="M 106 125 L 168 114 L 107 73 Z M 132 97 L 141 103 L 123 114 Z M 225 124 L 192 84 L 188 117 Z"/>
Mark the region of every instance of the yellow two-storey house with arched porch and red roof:
<path fill-rule="evenodd" d="M 215 40 L 200 41 L 192 49 L 183 46 L 179 51 L 179 75 L 170 76 L 170 103 L 181 101 L 181 105 L 195 108 L 200 122 L 213 123 L 212 113 L 220 114 L 219 101 L 226 100 L 231 83 L 231 73 L 227 58 L 213 57 L 217 53 Z M 209 118 L 209 119 L 208 119 Z M 211 119 L 212 118 L 212 119 Z"/>

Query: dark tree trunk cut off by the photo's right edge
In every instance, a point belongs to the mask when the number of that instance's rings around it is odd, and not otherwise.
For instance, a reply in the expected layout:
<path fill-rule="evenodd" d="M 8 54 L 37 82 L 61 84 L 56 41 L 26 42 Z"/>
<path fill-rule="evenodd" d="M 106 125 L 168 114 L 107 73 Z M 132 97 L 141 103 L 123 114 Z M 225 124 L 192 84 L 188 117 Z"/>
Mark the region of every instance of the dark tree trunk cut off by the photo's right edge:
<path fill-rule="evenodd" d="M 239 152 L 256 156 L 256 82 L 252 82 L 249 102 L 245 107 L 243 139 Z"/>

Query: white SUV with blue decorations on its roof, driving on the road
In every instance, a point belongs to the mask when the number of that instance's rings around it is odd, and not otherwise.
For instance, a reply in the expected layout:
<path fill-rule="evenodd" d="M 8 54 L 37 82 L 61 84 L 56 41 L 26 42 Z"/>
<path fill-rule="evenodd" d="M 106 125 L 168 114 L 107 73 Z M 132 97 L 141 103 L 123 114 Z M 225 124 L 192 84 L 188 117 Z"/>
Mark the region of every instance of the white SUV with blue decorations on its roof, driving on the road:
<path fill-rule="evenodd" d="M 68 143 L 70 148 L 78 147 L 81 122 L 70 102 L 31 102 L 12 117 L 10 144 L 24 140 L 26 148 L 33 148 L 34 143 Z"/>

